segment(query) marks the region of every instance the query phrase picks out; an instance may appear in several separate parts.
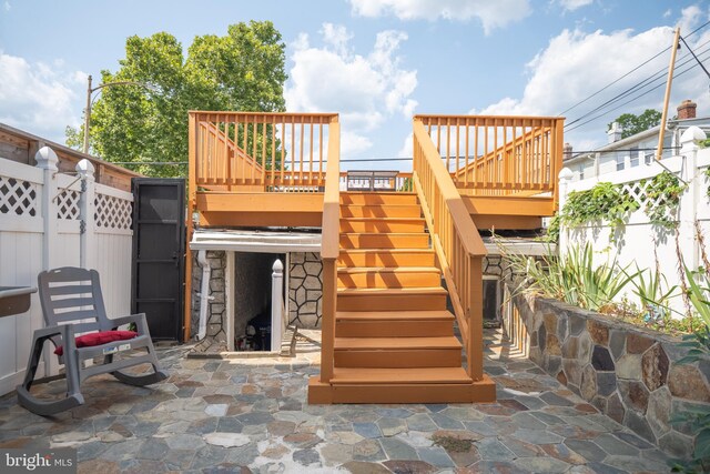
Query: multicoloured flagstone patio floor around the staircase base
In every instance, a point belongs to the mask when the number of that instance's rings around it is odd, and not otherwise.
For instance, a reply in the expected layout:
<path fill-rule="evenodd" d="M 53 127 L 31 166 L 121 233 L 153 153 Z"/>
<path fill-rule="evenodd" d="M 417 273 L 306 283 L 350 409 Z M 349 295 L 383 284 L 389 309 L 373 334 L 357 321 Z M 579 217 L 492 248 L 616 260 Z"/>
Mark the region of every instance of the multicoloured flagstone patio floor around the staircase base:
<path fill-rule="evenodd" d="M 79 472 L 92 474 L 669 472 L 666 454 L 498 333 L 486 343 L 498 383 L 488 405 L 308 405 L 315 353 L 215 361 L 186 359 L 189 345 L 161 347 L 171 377 L 155 386 L 89 379 L 85 405 L 53 417 L 0 397 L 0 447 L 74 447 Z M 37 391 L 60 395 L 63 382 Z"/>

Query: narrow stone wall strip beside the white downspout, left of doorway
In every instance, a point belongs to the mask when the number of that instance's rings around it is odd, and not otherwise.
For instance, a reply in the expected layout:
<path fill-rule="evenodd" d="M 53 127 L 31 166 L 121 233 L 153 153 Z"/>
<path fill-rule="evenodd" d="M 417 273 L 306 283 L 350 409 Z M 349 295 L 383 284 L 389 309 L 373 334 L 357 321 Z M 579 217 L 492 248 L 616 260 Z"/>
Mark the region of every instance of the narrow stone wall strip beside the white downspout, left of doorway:
<path fill-rule="evenodd" d="M 210 278 L 210 309 L 207 311 L 207 333 L 196 346 L 196 352 L 226 351 L 226 306 L 224 272 L 226 270 L 226 252 L 209 250 L 207 262 L 212 269 Z M 200 292 L 202 290 L 202 266 L 197 262 L 197 252 L 192 252 L 192 319 L 191 337 L 200 330 Z"/>

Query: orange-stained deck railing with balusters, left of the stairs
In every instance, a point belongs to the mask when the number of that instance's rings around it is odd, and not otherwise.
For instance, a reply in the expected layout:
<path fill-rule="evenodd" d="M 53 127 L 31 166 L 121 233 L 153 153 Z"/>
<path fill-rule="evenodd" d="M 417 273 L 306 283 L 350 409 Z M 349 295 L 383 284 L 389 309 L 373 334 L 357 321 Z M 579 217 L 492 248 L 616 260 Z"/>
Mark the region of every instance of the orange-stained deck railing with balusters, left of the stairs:
<path fill-rule="evenodd" d="M 211 191 L 320 192 L 333 113 L 190 112 L 190 173 Z"/>

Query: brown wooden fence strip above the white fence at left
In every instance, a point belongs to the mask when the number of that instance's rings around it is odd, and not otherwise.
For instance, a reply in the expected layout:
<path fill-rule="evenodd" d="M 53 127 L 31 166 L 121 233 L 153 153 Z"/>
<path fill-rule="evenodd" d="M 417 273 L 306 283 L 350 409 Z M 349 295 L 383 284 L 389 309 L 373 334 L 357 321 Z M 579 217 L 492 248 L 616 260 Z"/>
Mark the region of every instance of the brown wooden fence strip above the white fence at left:
<path fill-rule="evenodd" d="M 81 160 L 91 162 L 95 170 L 95 181 L 111 188 L 131 191 L 131 179 L 142 174 L 100 160 L 95 157 L 72 150 L 60 143 L 54 143 L 41 137 L 33 135 L 22 130 L 0 123 L 0 157 L 34 167 L 34 154 L 42 147 L 50 147 L 59 157 L 58 168 L 60 172 L 73 172 L 74 167 Z"/>

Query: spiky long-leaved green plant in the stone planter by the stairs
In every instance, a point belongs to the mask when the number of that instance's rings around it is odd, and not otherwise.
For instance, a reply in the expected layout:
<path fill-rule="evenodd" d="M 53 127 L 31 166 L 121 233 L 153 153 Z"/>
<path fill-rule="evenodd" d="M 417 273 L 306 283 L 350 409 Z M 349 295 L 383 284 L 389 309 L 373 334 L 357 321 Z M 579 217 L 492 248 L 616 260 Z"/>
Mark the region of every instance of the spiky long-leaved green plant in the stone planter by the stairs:
<path fill-rule="evenodd" d="M 638 272 L 629 275 L 618 271 L 616 260 L 594 266 L 594 250 L 589 243 L 584 249 L 575 245 L 568 249 L 565 259 L 549 253 L 541 260 L 506 253 L 514 273 L 526 275 L 514 292 L 534 292 L 546 297 L 566 301 L 588 310 L 598 310 L 611 302 Z"/>

